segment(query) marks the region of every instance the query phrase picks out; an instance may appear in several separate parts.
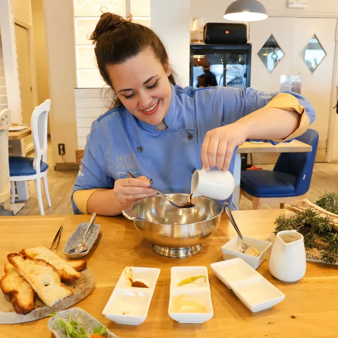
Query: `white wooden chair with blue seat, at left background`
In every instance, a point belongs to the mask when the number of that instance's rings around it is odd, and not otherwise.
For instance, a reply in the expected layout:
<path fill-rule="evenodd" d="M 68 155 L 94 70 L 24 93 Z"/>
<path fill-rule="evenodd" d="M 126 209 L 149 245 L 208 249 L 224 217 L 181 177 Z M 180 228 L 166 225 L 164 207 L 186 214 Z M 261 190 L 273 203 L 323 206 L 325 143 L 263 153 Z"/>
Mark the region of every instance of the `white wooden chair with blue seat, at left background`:
<path fill-rule="evenodd" d="M 47 181 L 47 123 L 50 106 L 51 100 L 47 99 L 38 107 L 35 107 L 32 113 L 31 128 L 35 151 L 34 160 L 30 157 L 21 156 L 9 158 L 10 187 L 12 193 L 11 202 L 14 203 L 15 201 L 14 182 L 34 179 L 41 215 L 45 214 L 42 203 L 41 178 L 43 179 L 48 205 L 52 206 Z"/>

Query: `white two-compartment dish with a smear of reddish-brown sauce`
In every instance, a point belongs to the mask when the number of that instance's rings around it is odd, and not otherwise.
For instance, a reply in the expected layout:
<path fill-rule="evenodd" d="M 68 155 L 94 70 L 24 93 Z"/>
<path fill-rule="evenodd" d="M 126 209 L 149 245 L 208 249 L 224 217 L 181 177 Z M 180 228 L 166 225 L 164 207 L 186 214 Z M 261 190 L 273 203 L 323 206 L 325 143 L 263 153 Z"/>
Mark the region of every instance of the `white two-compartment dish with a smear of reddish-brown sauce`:
<path fill-rule="evenodd" d="M 117 324 L 140 325 L 148 315 L 160 269 L 126 266 L 102 314 Z M 132 287 L 131 280 L 148 286 Z"/>

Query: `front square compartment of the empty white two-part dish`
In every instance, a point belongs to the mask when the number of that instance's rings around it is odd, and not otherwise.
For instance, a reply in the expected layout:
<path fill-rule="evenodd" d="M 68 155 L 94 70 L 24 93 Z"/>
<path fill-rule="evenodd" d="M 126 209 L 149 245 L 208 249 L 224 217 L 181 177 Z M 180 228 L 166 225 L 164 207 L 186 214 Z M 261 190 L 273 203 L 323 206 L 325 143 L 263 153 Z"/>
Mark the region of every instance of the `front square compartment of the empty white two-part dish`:
<path fill-rule="evenodd" d="M 285 298 L 284 293 L 263 276 L 234 283 L 232 289 L 252 312 L 269 309 Z"/>

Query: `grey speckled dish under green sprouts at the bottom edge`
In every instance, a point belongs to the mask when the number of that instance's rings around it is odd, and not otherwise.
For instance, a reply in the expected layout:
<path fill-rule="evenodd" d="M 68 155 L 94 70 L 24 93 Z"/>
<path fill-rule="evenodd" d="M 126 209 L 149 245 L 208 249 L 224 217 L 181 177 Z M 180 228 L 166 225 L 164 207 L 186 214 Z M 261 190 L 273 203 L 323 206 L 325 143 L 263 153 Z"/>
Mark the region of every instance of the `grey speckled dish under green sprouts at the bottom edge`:
<path fill-rule="evenodd" d="M 68 310 L 60 311 L 57 314 L 58 317 L 63 318 L 67 322 L 69 322 L 69 317 L 72 316 L 72 320 L 76 321 L 77 323 L 83 324 L 82 327 L 84 328 L 87 334 L 92 334 L 94 328 L 100 326 L 101 323 L 96 320 L 93 316 L 89 315 L 87 312 L 80 308 L 71 308 Z M 57 324 L 58 319 L 52 317 L 48 321 L 48 330 L 53 332 L 56 338 L 67 338 L 67 334 L 65 331 Z M 111 333 L 108 329 L 105 332 L 104 338 L 118 338 L 113 333 Z"/>

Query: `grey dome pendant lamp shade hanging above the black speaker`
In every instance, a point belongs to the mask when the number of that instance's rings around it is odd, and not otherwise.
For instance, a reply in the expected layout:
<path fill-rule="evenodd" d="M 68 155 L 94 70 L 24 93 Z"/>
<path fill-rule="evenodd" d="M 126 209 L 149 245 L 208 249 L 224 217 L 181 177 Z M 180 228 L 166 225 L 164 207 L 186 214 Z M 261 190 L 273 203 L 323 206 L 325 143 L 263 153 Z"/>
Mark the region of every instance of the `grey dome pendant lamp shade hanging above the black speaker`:
<path fill-rule="evenodd" d="M 267 18 L 264 5 L 257 0 L 236 0 L 225 10 L 225 19 L 233 21 L 258 21 Z"/>

